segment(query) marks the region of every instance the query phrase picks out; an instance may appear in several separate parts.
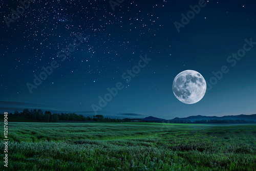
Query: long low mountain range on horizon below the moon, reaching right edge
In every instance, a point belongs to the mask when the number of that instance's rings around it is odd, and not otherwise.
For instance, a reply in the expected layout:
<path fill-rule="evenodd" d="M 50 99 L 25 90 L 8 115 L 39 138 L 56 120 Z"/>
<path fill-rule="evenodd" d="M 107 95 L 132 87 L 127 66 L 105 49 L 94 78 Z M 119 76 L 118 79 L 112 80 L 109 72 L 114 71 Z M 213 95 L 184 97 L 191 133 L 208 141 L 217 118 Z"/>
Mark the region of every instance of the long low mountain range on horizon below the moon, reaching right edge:
<path fill-rule="evenodd" d="M 232 120 L 252 120 L 252 121 L 256 121 L 256 114 L 253 115 L 228 115 L 228 116 L 202 116 L 202 115 L 197 115 L 197 116 L 189 116 L 186 118 L 174 118 L 174 119 L 169 119 L 169 120 L 190 120 L 190 121 L 194 121 L 194 120 L 208 120 L 208 119 L 218 119 L 218 120 L 222 120 L 222 119 L 232 119 Z"/>

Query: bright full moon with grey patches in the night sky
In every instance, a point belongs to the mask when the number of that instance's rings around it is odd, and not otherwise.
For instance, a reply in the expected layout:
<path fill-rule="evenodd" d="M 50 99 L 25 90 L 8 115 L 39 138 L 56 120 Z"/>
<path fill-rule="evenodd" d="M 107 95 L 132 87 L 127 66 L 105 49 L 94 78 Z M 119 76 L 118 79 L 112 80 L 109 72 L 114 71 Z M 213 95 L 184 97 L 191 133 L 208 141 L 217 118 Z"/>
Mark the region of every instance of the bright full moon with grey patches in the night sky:
<path fill-rule="evenodd" d="M 183 71 L 174 79 L 173 92 L 176 98 L 183 103 L 196 103 L 204 97 L 206 92 L 205 79 L 197 71 Z"/>

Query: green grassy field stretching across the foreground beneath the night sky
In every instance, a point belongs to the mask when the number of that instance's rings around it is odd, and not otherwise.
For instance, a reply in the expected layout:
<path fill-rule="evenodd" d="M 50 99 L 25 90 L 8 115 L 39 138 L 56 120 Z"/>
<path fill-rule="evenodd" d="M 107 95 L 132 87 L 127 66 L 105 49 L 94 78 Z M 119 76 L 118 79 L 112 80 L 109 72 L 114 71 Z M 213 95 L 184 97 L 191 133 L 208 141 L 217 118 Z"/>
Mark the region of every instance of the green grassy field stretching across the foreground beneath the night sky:
<path fill-rule="evenodd" d="M 9 122 L 8 138 L 3 170 L 256 170 L 255 124 Z"/>

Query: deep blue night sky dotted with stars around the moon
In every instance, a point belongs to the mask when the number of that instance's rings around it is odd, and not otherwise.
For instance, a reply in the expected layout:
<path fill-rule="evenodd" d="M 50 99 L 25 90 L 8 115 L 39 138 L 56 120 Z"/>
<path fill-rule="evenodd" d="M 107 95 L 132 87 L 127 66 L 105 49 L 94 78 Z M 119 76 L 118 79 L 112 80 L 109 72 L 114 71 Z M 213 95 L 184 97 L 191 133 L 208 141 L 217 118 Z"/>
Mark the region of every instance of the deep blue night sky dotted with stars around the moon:
<path fill-rule="evenodd" d="M 254 1 L 21 5 L 0 1 L 1 113 L 28 108 L 92 116 L 97 109 L 105 117 L 163 119 L 256 113 Z M 193 15 L 195 6 L 200 11 Z M 232 55 L 244 48 L 242 57 Z M 212 78 L 223 66 L 228 72 Z M 195 104 L 180 102 L 172 90 L 184 70 L 207 81 Z"/>

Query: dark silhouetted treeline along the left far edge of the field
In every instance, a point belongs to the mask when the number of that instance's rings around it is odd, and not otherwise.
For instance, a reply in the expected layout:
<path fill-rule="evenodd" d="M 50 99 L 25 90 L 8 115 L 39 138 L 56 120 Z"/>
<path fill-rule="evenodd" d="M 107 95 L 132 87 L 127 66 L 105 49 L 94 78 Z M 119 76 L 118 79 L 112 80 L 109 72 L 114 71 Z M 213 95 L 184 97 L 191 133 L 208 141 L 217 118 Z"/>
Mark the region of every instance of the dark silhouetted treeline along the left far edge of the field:
<path fill-rule="evenodd" d="M 10 113 L 11 114 L 11 113 Z M 24 117 L 42 122 L 61 122 L 61 121 L 97 121 L 97 122 L 124 122 L 124 119 L 104 118 L 103 115 L 83 116 L 75 113 L 55 114 L 50 111 L 24 109 L 23 112 L 14 111 L 15 116 Z"/>

